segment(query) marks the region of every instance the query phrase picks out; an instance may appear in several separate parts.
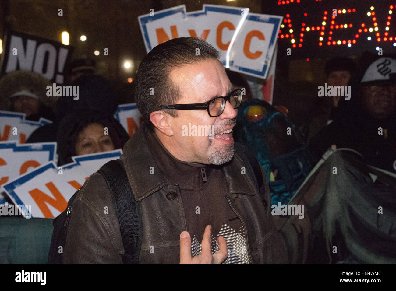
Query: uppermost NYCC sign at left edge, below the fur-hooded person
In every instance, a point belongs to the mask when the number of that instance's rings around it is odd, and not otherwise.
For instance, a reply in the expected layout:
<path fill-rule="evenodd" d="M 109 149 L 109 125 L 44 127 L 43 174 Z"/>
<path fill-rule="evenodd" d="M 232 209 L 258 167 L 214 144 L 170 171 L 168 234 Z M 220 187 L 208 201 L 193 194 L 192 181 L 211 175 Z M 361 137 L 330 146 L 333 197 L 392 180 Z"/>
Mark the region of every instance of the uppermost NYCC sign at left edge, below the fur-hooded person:
<path fill-rule="evenodd" d="M 38 127 L 52 123 L 45 118 L 31 121 L 26 120 L 25 117 L 25 113 L 0 110 L 0 141 L 26 143 L 26 140 Z"/>

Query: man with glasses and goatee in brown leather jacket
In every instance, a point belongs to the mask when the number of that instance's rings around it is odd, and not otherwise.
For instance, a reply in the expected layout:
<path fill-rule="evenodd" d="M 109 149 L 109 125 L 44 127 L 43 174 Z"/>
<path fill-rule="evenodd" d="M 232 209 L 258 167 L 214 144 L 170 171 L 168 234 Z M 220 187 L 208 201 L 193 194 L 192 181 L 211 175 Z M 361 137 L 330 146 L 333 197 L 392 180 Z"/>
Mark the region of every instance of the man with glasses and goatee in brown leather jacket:
<path fill-rule="evenodd" d="M 218 56 L 203 40 L 176 38 L 139 65 L 135 93 L 144 122 L 121 157 L 141 209 L 139 263 L 287 262 L 265 175 L 259 189 L 236 151 L 242 88 L 233 88 Z M 186 136 L 188 125 L 210 127 L 213 136 Z M 120 226 L 101 175 L 86 181 L 72 214 L 64 262 L 122 262 Z"/>

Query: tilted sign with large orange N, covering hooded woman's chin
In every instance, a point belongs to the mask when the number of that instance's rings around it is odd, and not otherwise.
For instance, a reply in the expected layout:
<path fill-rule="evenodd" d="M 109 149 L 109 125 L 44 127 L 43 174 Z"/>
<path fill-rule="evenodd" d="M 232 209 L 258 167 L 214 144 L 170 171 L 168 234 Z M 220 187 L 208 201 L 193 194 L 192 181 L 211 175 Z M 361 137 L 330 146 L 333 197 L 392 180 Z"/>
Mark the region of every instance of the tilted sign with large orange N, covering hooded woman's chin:
<path fill-rule="evenodd" d="M 122 150 L 118 149 L 76 156 L 72 158 L 74 162 L 62 167 L 49 162 L 2 187 L 14 204 L 32 205 L 31 213 L 28 211 L 25 217 L 57 217 L 92 173 L 110 160 L 120 158 L 121 154 Z"/>

